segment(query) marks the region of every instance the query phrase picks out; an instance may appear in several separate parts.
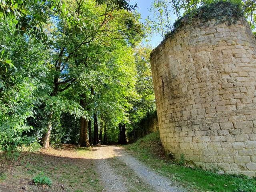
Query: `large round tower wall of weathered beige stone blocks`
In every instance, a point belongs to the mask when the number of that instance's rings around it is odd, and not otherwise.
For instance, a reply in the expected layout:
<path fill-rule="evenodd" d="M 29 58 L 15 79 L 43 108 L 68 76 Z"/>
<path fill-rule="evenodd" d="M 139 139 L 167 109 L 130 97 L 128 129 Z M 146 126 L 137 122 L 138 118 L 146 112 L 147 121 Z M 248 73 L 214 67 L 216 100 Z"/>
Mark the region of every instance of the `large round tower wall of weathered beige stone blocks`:
<path fill-rule="evenodd" d="M 151 65 L 166 153 L 256 176 L 256 41 L 247 21 L 194 19 L 152 51 Z"/>

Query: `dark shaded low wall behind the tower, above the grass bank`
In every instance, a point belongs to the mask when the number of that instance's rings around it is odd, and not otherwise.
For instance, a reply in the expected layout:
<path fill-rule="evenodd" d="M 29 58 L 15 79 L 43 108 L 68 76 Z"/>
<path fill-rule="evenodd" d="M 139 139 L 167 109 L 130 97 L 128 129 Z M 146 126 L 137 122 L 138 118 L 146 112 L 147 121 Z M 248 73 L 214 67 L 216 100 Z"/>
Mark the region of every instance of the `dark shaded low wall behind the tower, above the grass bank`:
<path fill-rule="evenodd" d="M 138 124 L 138 127 L 134 128 L 134 130 L 128 133 L 128 142 L 134 142 L 138 138 L 142 138 L 145 135 L 158 131 L 158 120 L 156 111 L 146 116 L 141 122 Z"/>

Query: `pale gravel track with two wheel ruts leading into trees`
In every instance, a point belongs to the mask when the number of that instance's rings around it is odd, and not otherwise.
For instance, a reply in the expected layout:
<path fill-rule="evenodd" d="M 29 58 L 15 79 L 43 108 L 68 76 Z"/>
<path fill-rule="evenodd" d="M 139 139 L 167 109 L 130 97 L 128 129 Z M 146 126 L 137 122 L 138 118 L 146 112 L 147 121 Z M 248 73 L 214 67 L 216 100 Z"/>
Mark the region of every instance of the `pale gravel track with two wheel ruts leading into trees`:
<path fill-rule="evenodd" d="M 184 192 L 182 187 L 174 186 L 172 181 L 168 178 L 160 176 L 150 168 L 144 166 L 141 162 L 136 160 L 133 156 L 128 154 L 121 146 L 97 146 L 93 147 L 97 161 L 97 168 L 100 179 L 104 184 L 104 190 L 109 192 L 129 192 L 130 188 L 135 191 L 156 191 L 156 192 Z M 111 166 L 109 160 L 116 157 L 118 162 L 122 162 L 127 166 L 122 169 L 127 169 L 123 173 L 128 173 L 130 170 L 140 178 L 138 183 L 144 184 L 143 189 L 136 188 L 133 185 L 135 182 L 127 182 L 125 178 L 129 175 L 118 175 L 115 171 L 115 166 Z M 116 163 L 117 164 L 117 163 Z M 119 164 L 119 163 L 118 163 Z M 135 184 L 136 185 L 136 184 Z M 132 190 L 134 191 L 134 190 Z"/>

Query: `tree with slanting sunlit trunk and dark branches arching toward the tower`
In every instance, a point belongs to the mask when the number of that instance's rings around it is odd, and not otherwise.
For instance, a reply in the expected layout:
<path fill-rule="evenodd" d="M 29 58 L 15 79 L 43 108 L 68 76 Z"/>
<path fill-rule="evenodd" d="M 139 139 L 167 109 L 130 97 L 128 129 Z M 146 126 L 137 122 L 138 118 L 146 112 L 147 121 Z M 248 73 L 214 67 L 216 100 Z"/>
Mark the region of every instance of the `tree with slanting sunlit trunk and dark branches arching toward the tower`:
<path fill-rule="evenodd" d="M 118 7 L 113 4 L 97 7 L 93 1 L 69 2 L 69 4 L 72 5 L 70 12 L 76 14 L 79 22 L 75 26 L 66 26 L 69 23 L 59 17 L 56 30 L 51 33 L 54 37 L 52 39 L 54 52 L 50 65 L 54 78 L 52 80 L 52 93 L 47 103 L 49 108 L 52 108 L 50 114 L 53 115 L 49 116 L 44 148 L 49 146 L 54 113 L 63 110 L 64 101 L 69 102 L 70 108 L 68 110 L 70 112 L 76 111 L 78 116 L 83 116 L 81 110 L 74 110 L 74 108 L 80 109 L 80 106 L 72 100 L 66 100 L 63 92 L 68 90 L 78 80 L 77 77 L 82 74 L 82 66 L 86 66 L 86 62 L 90 59 L 88 57 L 90 44 L 96 39 L 100 42 L 103 38 L 126 39 L 130 40 L 130 43 L 134 43 L 141 36 L 141 25 L 131 12 L 118 10 Z M 88 23 L 88 20 L 91 22 Z M 79 24 L 85 24 L 85 27 L 81 28 Z"/>

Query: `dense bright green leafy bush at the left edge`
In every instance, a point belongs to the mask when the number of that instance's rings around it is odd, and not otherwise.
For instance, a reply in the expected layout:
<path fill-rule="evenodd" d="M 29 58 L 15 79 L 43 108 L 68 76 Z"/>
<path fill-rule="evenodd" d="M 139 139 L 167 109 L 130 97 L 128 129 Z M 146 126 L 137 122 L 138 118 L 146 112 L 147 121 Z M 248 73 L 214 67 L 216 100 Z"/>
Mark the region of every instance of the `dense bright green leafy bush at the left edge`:
<path fill-rule="evenodd" d="M 15 36 L 14 24 L 7 22 L 0 25 L 0 150 L 15 150 L 36 141 L 27 121 L 50 90 L 44 62 L 49 52 L 42 43 Z"/>

